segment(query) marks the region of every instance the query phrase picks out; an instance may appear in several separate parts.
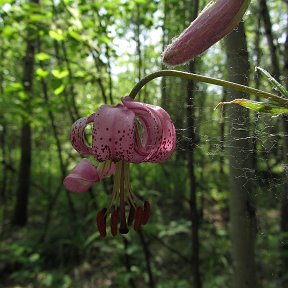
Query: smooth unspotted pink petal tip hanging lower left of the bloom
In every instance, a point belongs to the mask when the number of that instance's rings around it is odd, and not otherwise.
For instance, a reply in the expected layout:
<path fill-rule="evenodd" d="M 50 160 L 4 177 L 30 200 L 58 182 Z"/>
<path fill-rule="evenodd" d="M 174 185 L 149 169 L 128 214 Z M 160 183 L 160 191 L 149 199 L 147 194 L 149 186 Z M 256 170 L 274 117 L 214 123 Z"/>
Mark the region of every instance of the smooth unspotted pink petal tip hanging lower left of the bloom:
<path fill-rule="evenodd" d="M 100 180 L 97 169 L 88 159 L 82 159 L 65 177 L 63 184 L 67 190 L 81 193 L 87 191 L 95 182 Z"/>

